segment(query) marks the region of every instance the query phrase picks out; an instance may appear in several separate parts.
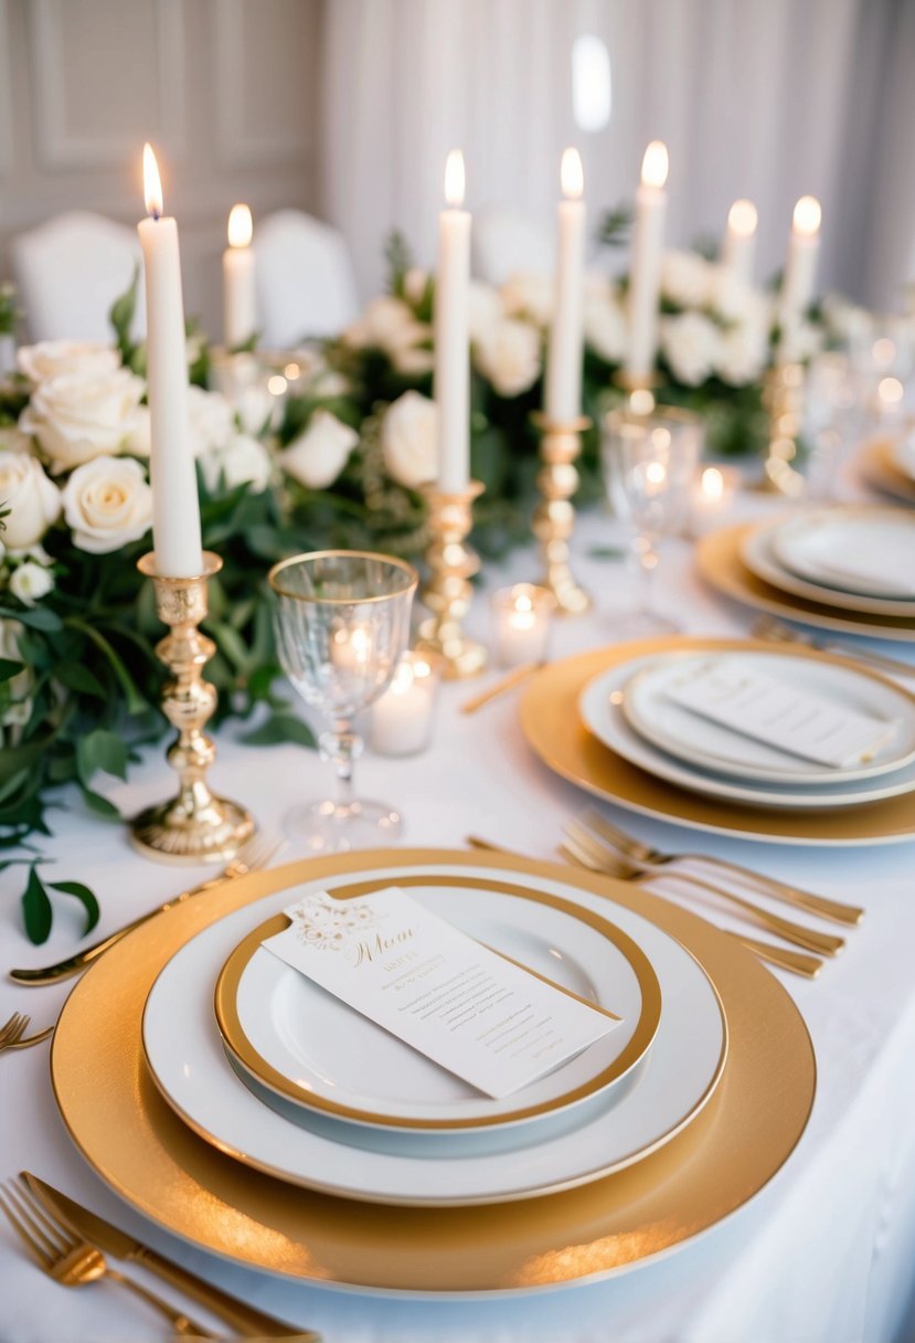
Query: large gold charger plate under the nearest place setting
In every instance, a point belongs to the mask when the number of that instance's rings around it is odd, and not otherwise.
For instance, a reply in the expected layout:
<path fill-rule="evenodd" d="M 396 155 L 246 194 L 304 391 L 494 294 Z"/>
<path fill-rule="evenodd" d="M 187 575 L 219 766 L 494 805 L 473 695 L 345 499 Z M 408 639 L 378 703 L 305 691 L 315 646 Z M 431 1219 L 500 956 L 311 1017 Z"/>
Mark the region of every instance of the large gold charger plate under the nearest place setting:
<path fill-rule="evenodd" d="M 411 865 L 559 880 L 636 909 L 702 964 L 727 1018 L 724 1076 L 695 1121 L 643 1162 L 550 1197 L 470 1209 L 400 1209 L 311 1194 L 199 1139 L 160 1097 L 141 1049 L 156 975 L 200 929 L 262 896 L 322 876 Z M 99 1029 L 99 1022 L 105 1029 Z M 598 1277 L 669 1250 L 753 1198 L 806 1125 L 816 1061 L 781 984 L 711 924 L 624 882 L 508 855 L 419 849 L 342 854 L 251 873 L 130 933 L 64 1005 L 54 1091 L 86 1160 L 154 1222 L 271 1273 L 398 1292 L 492 1292 Z"/>

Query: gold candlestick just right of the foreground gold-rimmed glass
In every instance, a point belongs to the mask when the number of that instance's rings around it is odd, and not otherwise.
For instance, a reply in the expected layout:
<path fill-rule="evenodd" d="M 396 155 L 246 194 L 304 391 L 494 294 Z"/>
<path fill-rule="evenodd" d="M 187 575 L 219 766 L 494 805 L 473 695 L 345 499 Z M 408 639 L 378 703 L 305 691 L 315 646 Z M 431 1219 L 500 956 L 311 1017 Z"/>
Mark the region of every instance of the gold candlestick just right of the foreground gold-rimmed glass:
<path fill-rule="evenodd" d="M 424 490 L 429 501 L 432 543 L 425 552 L 431 576 L 423 590 L 423 602 L 432 618 L 420 626 L 419 649 L 428 649 L 444 659 L 441 674 L 447 681 L 478 676 L 486 666 L 486 649 L 468 639 L 460 627 L 467 615 L 474 588 L 470 579 L 480 567 L 479 556 L 467 545 L 472 526 L 474 500 L 483 493 L 479 481 L 470 481 L 466 490 L 443 492 L 433 485 Z"/>

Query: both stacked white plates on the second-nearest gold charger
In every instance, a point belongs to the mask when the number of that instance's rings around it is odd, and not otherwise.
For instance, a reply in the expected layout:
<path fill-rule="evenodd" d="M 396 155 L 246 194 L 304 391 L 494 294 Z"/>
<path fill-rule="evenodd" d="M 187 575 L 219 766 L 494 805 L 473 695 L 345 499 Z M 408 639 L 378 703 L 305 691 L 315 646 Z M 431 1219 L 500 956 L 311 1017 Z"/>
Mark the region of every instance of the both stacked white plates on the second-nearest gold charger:
<path fill-rule="evenodd" d="M 821 702 L 887 724 L 880 744 L 841 767 L 817 764 L 703 717 L 671 697 L 714 670 L 763 674 Z M 771 650 L 664 651 L 594 677 L 580 698 L 585 725 L 631 764 L 692 792 L 774 808 L 852 807 L 915 790 L 915 698 L 851 662 Z"/>

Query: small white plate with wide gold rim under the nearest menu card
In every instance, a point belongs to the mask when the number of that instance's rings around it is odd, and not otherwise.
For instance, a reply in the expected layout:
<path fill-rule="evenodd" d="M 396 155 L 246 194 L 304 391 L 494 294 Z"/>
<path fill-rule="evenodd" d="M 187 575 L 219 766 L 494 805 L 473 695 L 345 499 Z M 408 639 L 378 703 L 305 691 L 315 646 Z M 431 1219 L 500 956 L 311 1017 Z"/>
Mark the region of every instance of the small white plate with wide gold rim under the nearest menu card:
<path fill-rule="evenodd" d="M 424 898 L 441 919 L 620 1023 L 546 1077 L 492 1100 L 274 956 L 260 945 L 270 933 L 255 929 L 216 986 L 216 1021 L 241 1070 L 338 1123 L 474 1135 L 479 1148 L 487 1129 L 565 1121 L 569 1109 L 605 1099 L 645 1056 L 660 1019 L 660 988 L 651 964 L 612 923 L 582 917 L 577 905 L 543 904 L 537 892 L 441 886 Z"/>

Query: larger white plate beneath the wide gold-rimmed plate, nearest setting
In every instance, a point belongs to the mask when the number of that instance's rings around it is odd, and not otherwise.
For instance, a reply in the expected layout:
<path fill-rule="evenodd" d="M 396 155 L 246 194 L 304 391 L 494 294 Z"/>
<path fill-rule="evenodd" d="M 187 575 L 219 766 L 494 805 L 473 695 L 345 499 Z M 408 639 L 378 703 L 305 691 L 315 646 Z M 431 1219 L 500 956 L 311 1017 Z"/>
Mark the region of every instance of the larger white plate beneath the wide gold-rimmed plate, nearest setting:
<path fill-rule="evenodd" d="M 370 881 L 378 888 L 409 884 L 417 898 L 441 885 L 474 889 L 479 878 L 494 889 L 513 885 L 498 869 L 474 869 L 470 877 L 459 866 L 396 873 L 386 868 L 360 876 L 362 893 Z M 317 880 L 212 924 L 172 958 L 149 994 L 144 1049 L 152 1074 L 172 1108 L 220 1151 L 291 1185 L 345 1198 L 412 1206 L 507 1202 L 572 1189 L 631 1164 L 674 1138 L 711 1096 L 727 1033 L 718 995 L 692 956 L 640 915 L 559 880 L 538 878 L 538 893 L 609 916 L 657 975 L 663 1001 L 657 1034 L 623 1095 L 580 1109 L 570 1132 L 522 1146 L 510 1159 L 504 1151 L 429 1156 L 415 1147 L 428 1135 L 398 1132 L 384 1135 L 390 1150 L 364 1150 L 339 1140 L 341 1131 L 354 1125 L 333 1124 L 329 1133 L 323 1116 L 314 1116 L 314 1127 L 290 1121 L 252 1095 L 229 1066 L 213 1017 L 213 983 L 252 925 L 311 892 L 350 884 L 346 873 Z M 521 878 L 517 889 L 523 889 Z"/>

